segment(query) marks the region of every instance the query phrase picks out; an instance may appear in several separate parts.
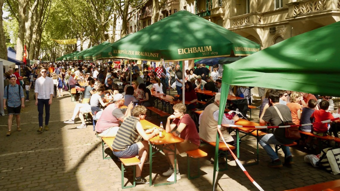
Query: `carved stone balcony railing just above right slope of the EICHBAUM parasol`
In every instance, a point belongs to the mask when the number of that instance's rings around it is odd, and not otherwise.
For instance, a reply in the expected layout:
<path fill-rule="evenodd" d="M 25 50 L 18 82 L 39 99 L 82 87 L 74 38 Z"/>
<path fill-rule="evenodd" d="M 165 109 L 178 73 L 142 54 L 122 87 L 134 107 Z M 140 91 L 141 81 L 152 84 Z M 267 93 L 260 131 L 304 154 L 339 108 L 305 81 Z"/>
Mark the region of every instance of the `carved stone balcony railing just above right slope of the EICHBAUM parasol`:
<path fill-rule="evenodd" d="M 248 25 L 248 24 L 262 24 L 262 14 L 260 13 L 249 13 L 236 17 L 229 18 L 232 20 L 232 27 Z"/>

